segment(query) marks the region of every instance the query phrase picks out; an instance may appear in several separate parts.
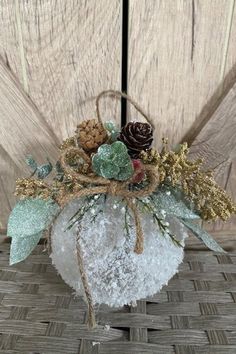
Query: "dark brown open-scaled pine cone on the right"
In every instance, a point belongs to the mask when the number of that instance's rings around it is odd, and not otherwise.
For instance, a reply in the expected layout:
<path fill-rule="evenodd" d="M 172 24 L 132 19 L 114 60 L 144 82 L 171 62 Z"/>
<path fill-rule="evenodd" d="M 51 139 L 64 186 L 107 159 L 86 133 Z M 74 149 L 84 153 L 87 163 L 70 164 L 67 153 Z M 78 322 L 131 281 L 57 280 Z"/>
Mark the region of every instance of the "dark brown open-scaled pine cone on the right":
<path fill-rule="evenodd" d="M 127 146 L 132 158 L 137 158 L 141 151 L 148 150 L 152 144 L 152 126 L 148 123 L 130 122 L 121 129 L 118 140 Z"/>

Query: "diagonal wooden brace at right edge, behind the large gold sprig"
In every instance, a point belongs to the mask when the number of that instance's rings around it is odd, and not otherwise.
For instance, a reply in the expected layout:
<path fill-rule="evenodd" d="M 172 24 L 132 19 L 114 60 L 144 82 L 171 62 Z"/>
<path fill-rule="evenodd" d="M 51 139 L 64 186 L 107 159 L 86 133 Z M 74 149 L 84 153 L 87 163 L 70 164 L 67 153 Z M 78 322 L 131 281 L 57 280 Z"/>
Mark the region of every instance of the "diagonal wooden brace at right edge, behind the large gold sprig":
<path fill-rule="evenodd" d="M 211 119 L 193 141 L 190 157 L 204 158 L 205 168 L 213 169 L 217 182 L 236 201 L 236 84 L 220 103 Z M 205 223 L 210 232 L 236 231 L 236 216 L 225 222 Z M 222 240 L 223 241 L 223 240 Z M 233 237 L 232 247 L 236 249 Z"/>

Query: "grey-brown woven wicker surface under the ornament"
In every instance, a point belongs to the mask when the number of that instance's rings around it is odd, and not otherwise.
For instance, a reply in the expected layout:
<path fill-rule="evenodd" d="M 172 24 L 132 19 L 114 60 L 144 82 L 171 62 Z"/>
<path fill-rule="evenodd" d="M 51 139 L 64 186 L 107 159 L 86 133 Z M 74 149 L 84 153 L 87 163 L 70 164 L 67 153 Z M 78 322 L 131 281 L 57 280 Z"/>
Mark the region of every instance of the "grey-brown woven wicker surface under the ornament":
<path fill-rule="evenodd" d="M 136 308 L 100 307 L 89 331 L 85 303 L 42 248 L 9 267 L 0 245 L 1 354 L 236 353 L 236 254 L 186 252 L 161 293 Z"/>

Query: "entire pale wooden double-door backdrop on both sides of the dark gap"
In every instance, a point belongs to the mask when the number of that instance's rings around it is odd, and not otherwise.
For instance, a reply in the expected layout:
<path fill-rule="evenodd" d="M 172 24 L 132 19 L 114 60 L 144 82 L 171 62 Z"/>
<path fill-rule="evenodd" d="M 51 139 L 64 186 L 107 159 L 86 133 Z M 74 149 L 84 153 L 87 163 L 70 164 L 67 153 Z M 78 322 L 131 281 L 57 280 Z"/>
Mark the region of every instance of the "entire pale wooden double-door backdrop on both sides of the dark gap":
<path fill-rule="evenodd" d="M 0 55 L 8 67 L 1 62 L 7 78 L 0 83 L 3 224 L 14 201 L 12 184 L 25 173 L 23 156 L 31 150 L 41 159 L 44 148 L 54 156 L 50 149 L 72 134 L 76 123 L 94 117 L 94 97 L 103 89 L 120 89 L 121 3 L 2 0 Z M 235 35 L 235 0 L 129 1 L 128 92 L 154 119 L 157 146 L 162 136 L 171 144 L 187 138 L 195 146 L 201 134 L 209 136 L 212 114 L 235 82 Z M 119 122 L 118 101 L 106 99 L 102 108 L 104 119 Z M 128 118 L 136 119 L 128 108 Z M 231 160 L 217 178 L 234 196 L 234 156 Z M 233 232 L 235 221 L 210 229 Z"/>

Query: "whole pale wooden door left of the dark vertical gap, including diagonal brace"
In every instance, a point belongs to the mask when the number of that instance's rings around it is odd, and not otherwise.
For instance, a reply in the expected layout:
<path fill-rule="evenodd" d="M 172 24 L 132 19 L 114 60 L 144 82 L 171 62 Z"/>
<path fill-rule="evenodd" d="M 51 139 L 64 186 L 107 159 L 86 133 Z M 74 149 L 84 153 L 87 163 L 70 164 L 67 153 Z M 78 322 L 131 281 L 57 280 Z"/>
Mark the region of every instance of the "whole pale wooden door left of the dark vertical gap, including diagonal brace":
<path fill-rule="evenodd" d="M 26 173 L 24 156 L 53 160 L 50 144 L 94 118 L 94 97 L 120 89 L 121 0 L 3 0 L 0 55 L 0 222 L 6 225 L 14 180 Z M 102 114 L 120 122 L 119 102 L 104 100 Z"/>

